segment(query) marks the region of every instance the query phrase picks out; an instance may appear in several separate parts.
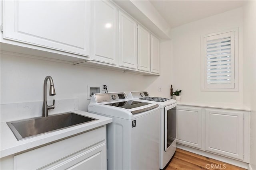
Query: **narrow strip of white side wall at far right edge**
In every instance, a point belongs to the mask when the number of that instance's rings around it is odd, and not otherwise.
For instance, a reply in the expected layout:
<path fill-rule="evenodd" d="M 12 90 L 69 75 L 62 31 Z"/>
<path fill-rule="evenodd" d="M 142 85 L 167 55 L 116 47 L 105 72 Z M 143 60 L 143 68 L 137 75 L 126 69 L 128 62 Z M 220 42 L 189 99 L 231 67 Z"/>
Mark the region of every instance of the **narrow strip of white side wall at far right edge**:
<path fill-rule="evenodd" d="M 244 104 L 251 108 L 250 164 L 256 169 L 256 12 L 255 1 L 243 8 Z"/>

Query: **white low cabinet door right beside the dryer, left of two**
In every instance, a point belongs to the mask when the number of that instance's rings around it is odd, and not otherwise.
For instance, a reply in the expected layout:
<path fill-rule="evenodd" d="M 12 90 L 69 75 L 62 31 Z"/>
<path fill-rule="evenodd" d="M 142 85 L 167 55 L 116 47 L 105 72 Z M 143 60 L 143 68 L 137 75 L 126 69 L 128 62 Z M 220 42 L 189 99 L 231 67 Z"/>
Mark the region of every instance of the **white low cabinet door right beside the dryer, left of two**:
<path fill-rule="evenodd" d="M 202 148 L 202 109 L 178 107 L 177 143 Z"/>

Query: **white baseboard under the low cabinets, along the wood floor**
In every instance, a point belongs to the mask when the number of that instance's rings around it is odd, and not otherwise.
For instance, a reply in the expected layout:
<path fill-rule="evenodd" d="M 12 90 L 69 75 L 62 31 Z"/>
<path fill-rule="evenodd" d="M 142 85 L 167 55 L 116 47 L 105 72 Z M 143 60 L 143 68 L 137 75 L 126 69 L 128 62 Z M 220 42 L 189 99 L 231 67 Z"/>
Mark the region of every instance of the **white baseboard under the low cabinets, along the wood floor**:
<path fill-rule="evenodd" d="M 199 155 L 202 155 L 202 156 L 206 156 L 208 158 L 212 158 L 212 159 L 216 159 L 216 160 L 219 160 L 219 161 L 222 161 L 222 162 L 226 162 L 228 164 L 232 164 L 232 165 L 239 166 L 241 168 L 249 170 L 249 165 L 250 164 L 248 164 L 246 162 L 242 162 L 242 161 L 239 161 L 239 160 L 234 160 L 232 158 L 227 158 L 227 157 L 224 157 L 224 156 L 220 156 L 220 155 L 213 154 L 213 153 L 206 152 L 206 151 L 199 150 L 199 149 L 194 149 L 194 148 L 187 147 L 187 146 L 180 145 L 180 144 L 177 144 L 177 148 L 183 149 L 183 150 L 186 150 L 188 152 L 195 153 L 195 154 L 199 154 Z M 252 169 L 250 169 L 250 170 L 252 170 Z"/>

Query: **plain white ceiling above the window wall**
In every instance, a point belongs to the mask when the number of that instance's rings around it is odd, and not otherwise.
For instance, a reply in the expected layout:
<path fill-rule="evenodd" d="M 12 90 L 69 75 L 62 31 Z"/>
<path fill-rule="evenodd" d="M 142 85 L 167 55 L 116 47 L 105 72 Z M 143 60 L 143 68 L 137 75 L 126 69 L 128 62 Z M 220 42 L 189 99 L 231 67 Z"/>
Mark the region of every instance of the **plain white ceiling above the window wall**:
<path fill-rule="evenodd" d="M 177 27 L 202 18 L 243 6 L 244 0 L 150 0 L 170 27 Z"/>

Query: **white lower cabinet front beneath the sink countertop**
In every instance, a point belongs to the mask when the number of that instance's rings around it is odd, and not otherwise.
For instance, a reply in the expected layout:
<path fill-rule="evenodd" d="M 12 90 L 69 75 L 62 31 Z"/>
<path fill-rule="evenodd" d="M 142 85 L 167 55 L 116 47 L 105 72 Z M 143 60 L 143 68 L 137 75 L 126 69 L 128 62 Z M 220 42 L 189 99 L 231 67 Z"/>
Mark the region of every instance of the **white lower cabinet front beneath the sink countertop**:
<path fill-rule="evenodd" d="M 106 170 L 106 125 L 21 154 L 1 158 L 1 169 Z"/>

